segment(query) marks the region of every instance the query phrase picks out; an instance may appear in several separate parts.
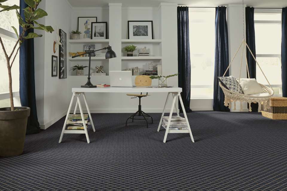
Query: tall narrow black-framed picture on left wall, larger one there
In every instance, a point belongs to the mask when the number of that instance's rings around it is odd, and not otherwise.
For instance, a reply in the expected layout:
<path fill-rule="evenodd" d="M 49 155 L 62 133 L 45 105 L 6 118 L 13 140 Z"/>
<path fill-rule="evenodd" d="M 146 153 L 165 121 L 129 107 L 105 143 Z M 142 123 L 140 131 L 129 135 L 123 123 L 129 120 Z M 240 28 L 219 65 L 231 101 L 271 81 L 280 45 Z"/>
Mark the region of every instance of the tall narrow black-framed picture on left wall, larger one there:
<path fill-rule="evenodd" d="M 59 29 L 60 42 L 59 45 L 59 78 L 67 78 L 67 34 Z"/>

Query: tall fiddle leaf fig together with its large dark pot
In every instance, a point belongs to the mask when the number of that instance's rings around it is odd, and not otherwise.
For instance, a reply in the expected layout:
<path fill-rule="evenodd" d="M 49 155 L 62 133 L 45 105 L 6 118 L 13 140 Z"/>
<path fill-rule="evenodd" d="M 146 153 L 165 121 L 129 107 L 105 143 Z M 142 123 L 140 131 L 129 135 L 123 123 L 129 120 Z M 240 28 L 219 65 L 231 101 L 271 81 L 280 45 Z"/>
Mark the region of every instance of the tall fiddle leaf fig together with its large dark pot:
<path fill-rule="evenodd" d="M 8 70 L 11 106 L 0 108 L 0 156 L 9 157 L 20 155 L 23 152 L 27 120 L 28 116 L 30 115 L 29 107 L 14 107 L 11 68 L 23 42 L 29 38 L 42 36 L 37 33 L 29 32 L 29 29 L 45 30 L 46 32 L 50 33 L 52 33 L 54 29 L 51 26 L 45 26 L 37 22 L 38 19 L 48 15 L 46 11 L 38 8 L 41 0 L 25 0 L 25 3 L 28 5 L 28 7 L 22 10 L 24 11 L 25 18 L 22 18 L 19 13 L 19 6 L 2 5 L 1 3 L 5 1 L 7 0 L 0 0 L 0 7 L 2 8 L 0 12 L 15 10 L 19 20 L 19 25 L 23 29 L 21 34 L 18 34 L 16 30 L 16 27 L 18 26 L 12 26 L 18 39 L 10 54 L 7 53 L 7 48 L 5 48 L 0 37 L 0 44 L 6 58 L 6 66 Z"/>

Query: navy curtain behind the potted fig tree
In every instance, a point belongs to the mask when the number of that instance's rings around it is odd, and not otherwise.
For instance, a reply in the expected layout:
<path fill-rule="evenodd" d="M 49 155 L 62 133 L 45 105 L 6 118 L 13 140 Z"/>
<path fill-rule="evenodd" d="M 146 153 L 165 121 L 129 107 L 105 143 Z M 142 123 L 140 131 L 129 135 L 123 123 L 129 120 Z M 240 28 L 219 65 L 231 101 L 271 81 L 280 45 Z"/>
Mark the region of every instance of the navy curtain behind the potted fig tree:
<path fill-rule="evenodd" d="M 24 0 L 20 0 L 20 15 L 25 18 L 24 11 L 28 5 Z M 20 34 L 22 27 L 19 27 Z M 25 36 L 33 32 L 32 29 L 25 33 Z M 36 96 L 35 96 L 35 76 L 34 76 L 34 40 L 25 40 L 19 52 L 19 72 L 20 72 L 20 101 L 24 107 L 30 107 L 26 134 L 39 133 L 40 127 L 37 118 Z"/>

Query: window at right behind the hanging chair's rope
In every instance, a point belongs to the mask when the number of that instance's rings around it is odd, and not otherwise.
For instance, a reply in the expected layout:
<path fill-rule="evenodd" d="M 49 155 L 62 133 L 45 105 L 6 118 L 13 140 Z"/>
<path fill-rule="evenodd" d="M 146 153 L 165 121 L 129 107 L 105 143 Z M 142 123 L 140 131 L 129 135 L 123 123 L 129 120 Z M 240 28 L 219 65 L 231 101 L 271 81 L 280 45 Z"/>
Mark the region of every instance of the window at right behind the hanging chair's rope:
<path fill-rule="evenodd" d="M 256 59 L 276 96 L 282 96 L 281 24 L 281 9 L 255 9 Z M 268 84 L 258 66 L 256 66 L 256 78 L 259 83 Z"/>

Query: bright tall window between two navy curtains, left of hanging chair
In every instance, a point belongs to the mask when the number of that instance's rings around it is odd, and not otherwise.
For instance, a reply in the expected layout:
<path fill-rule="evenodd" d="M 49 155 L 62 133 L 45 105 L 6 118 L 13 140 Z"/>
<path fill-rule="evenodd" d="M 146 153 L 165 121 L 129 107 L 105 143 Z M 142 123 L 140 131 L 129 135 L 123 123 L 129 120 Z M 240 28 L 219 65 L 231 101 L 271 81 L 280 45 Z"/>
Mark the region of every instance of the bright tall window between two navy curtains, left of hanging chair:
<path fill-rule="evenodd" d="M 190 98 L 213 98 L 215 9 L 189 9 Z"/>

